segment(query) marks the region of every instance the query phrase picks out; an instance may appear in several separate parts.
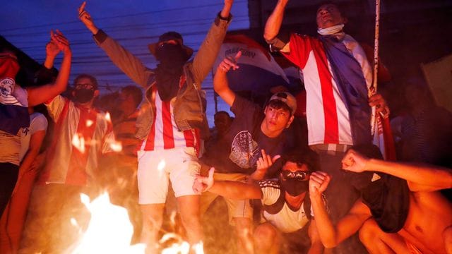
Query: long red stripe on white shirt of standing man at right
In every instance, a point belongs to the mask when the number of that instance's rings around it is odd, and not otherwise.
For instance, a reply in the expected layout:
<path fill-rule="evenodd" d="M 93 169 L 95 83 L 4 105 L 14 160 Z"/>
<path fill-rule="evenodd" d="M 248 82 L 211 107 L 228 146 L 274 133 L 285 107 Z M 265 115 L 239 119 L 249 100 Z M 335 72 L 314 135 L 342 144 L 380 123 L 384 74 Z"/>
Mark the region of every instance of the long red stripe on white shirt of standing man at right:
<path fill-rule="evenodd" d="M 328 69 L 328 59 L 326 58 L 323 45 L 319 43 L 317 53 L 314 54 L 316 58 L 317 71 L 319 71 L 319 80 L 321 85 L 323 114 L 325 116 L 325 140 L 324 143 L 336 144 L 339 143 L 339 124 L 338 111 L 336 109 L 336 102 L 333 95 L 333 82 L 330 70 Z"/>

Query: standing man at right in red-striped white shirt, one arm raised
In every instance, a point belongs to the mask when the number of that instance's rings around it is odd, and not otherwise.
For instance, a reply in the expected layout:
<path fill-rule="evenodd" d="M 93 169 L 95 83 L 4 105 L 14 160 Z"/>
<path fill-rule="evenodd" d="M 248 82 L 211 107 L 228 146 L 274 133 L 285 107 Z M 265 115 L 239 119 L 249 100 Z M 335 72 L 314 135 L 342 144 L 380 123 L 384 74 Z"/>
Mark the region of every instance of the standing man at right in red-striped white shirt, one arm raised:
<path fill-rule="evenodd" d="M 278 0 L 263 36 L 272 50 L 279 50 L 303 71 L 309 147 L 319 153 L 321 170 L 333 176 L 326 199 L 335 221 L 357 199 L 357 193 L 340 173 L 340 160 L 351 145 L 371 144 L 371 106 L 376 106 L 377 114 L 381 112 L 384 117 L 389 111 L 381 95 L 368 97 L 372 68 L 367 48 L 344 32 L 347 18 L 338 6 L 319 6 L 316 37 L 289 35 L 280 32 L 288 1 Z M 379 81 L 389 79 L 381 65 Z"/>

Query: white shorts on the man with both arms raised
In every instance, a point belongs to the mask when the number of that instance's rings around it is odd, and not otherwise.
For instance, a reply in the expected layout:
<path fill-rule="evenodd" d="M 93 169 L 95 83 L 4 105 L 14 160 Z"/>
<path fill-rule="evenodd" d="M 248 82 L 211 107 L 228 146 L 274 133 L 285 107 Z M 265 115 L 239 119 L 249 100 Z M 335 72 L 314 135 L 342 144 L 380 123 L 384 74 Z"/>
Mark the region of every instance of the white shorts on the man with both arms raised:
<path fill-rule="evenodd" d="M 193 147 L 138 151 L 138 203 L 164 204 L 169 180 L 176 198 L 198 195 L 192 187 L 200 168 Z"/>

